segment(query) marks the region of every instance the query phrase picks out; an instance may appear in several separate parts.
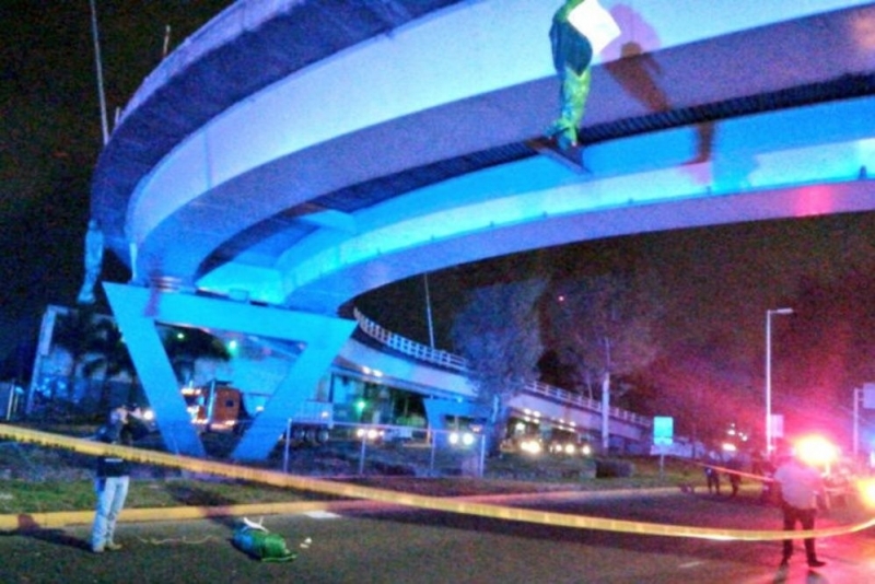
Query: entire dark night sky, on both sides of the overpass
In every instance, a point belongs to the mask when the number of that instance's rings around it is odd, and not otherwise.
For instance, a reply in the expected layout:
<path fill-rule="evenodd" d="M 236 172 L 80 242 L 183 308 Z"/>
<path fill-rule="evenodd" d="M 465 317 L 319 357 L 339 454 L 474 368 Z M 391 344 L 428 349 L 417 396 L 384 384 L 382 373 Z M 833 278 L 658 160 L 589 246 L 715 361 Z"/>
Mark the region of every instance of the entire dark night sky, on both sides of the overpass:
<path fill-rule="evenodd" d="M 159 65 L 167 25 L 172 49 L 228 4 L 98 1 L 110 120 Z M 46 305 L 75 301 L 102 137 L 88 0 L 7 0 L 0 21 L 0 360 L 9 376 L 30 367 L 16 348 L 36 341 Z M 775 399 L 788 409 L 801 416 L 819 404 L 848 409 L 853 387 L 875 381 L 873 213 L 623 237 L 545 250 L 527 261 L 572 275 L 594 266 L 655 269 L 670 302 L 662 323 L 666 357 L 653 375 L 678 401 L 704 400 L 715 417 L 751 401 L 761 407 L 767 308 L 797 312 L 774 328 Z M 474 272 L 432 275 L 439 343 L 465 285 L 488 281 L 494 269 L 481 264 Z M 104 275 L 127 278 L 109 255 Z M 371 294 L 363 305 L 388 328 L 428 340 L 421 279 Z"/>

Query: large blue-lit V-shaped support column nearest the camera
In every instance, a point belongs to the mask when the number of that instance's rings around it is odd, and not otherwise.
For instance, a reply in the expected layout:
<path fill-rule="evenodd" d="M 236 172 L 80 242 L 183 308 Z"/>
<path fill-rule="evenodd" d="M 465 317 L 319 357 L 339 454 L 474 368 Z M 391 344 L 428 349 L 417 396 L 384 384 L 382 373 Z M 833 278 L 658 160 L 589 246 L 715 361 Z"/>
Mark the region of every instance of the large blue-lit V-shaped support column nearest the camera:
<path fill-rule="evenodd" d="M 285 429 L 293 406 L 312 397 L 319 378 L 355 328 L 353 320 L 191 294 L 110 283 L 105 283 L 104 290 L 165 445 L 189 456 L 203 456 L 203 444 L 190 422 L 155 323 L 244 332 L 305 346 L 234 451 L 234 458 L 252 460 L 267 458 Z"/>

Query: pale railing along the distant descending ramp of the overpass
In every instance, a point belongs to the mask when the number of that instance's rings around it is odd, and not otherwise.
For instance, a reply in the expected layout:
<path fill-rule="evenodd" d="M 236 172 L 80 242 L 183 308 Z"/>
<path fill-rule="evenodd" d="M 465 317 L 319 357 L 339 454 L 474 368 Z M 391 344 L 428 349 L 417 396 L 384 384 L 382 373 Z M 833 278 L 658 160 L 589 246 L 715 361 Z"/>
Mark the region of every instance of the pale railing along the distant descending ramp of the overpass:
<path fill-rule="evenodd" d="M 386 330 L 382 326 L 368 318 L 368 316 L 362 314 L 359 308 L 354 308 L 353 314 L 355 316 L 355 322 L 359 324 L 359 328 L 361 328 L 365 335 L 385 344 L 386 347 L 394 349 L 395 351 L 412 357 L 419 361 L 433 363 L 435 365 L 458 371 L 459 373 L 466 373 L 468 371 L 468 362 L 463 357 L 444 350 L 432 349 L 431 347 L 412 341 L 396 332 Z M 550 399 L 561 401 L 562 404 L 574 405 L 592 411 L 602 412 L 600 401 L 584 397 L 580 394 L 574 394 L 567 389 L 548 385 L 546 383 L 529 382 L 526 384 L 523 390 L 527 394 L 549 397 Z M 649 418 L 620 408 L 610 408 L 608 413 L 618 420 L 623 420 L 644 427 L 651 425 Z"/>

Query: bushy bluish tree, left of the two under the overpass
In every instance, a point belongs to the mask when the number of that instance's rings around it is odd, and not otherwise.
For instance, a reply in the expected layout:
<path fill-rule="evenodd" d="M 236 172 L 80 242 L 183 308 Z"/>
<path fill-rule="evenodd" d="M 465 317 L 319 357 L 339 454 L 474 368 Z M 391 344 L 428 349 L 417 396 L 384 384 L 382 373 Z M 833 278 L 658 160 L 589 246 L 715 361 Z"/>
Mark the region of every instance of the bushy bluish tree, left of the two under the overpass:
<path fill-rule="evenodd" d="M 538 377 L 544 347 L 536 305 L 545 287 L 532 279 L 474 289 L 453 322 L 454 350 L 467 360 L 468 381 L 491 411 L 492 454 L 506 431 L 508 401 Z"/>

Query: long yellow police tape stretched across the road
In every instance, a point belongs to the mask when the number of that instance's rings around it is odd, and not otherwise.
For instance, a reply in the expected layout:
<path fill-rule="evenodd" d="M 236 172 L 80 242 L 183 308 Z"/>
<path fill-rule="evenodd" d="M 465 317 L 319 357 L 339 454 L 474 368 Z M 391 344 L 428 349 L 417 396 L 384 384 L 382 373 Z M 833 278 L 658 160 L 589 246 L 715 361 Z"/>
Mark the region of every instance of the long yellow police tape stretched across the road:
<path fill-rule="evenodd" d="M 692 527 L 681 525 L 665 525 L 655 523 L 632 522 L 625 519 L 609 519 L 603 517 L 588 517 L 549 511 L 535 511 L 529 509 L 508 507 L 475 501 L 463 501 L 454 498 L 428 497 L 399 491 L 375 489 L 330 480 L 313 479 L 283 472 L 264 470 L 258 468 L 236 466 L 212 460 L 203 460 L 188 456 L 180 456 L 116 444 L 104 444 L 84 439 L 75 439 L 7 425 L 0 423 L 0 436 L 38 444 L 42 446 L 66 448 L 80 454 L 94 456 L 115 455 L 127 458 L 133 463 L 179 468 L 192 472 L 217 475 L 226 478 L 247 480 L 273 487 L 284 487 L 335 497 L 349 499 L 366 499 L 394 505 L 443 511 L 464 515 L 477 515 L 497 519 L 536 523 L 575 529 L 595 529 L 603 532 L 618 532 L 627 534 L 653 535 L 665 537 L 687 537 L 698 539 L 712 539 L 722 541 L 770 541 L 786 538 L 786 532 L 781 530 L 747 530 L 747 529 L 715 529 L 708 527 Z M 875 518 L 854 525 L 838 526 L 813 532 L 794 532 L 794 537 L 832 537 L 867 529 L 875 525 Z"/>

